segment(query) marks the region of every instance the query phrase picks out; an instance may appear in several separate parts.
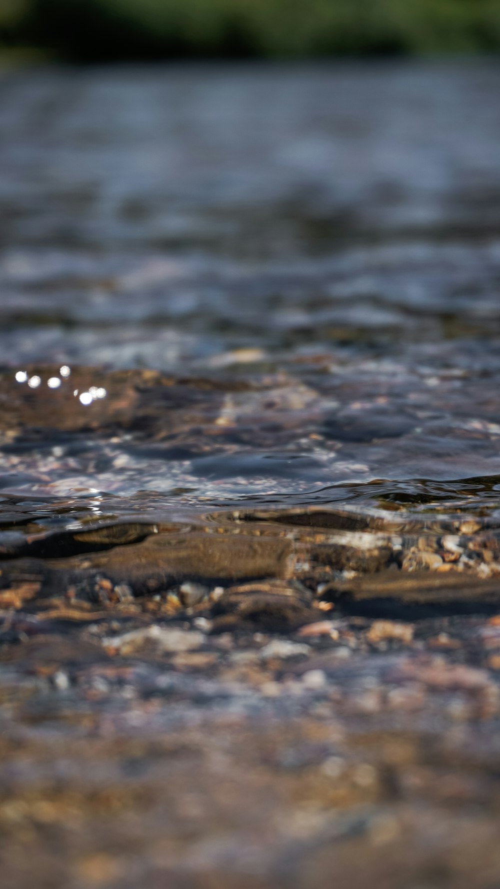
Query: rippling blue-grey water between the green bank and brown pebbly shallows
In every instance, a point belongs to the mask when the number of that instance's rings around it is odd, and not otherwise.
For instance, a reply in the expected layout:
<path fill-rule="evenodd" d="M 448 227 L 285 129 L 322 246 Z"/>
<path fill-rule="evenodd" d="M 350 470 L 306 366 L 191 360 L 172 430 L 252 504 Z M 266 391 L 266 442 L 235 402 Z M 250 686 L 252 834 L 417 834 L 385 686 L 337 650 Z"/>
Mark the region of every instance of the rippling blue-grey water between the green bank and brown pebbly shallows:
<path fill-rule="evenodd" d="M 3 396 L 51 364 L 28 400 L 56 415 L 4 449 L 3 491 L 76 516 L 85 489 L 103 514 L 137 492 L 163 517 L 495 513 L 497 87 L 485 65 L 4 75 Z M 77 387 L 46 391 L 56 364 L 97 365 L 118 400 L 112 369 L 174 385 L 117 436 L 110 396 L 75 402 L 59 445 Z"/>

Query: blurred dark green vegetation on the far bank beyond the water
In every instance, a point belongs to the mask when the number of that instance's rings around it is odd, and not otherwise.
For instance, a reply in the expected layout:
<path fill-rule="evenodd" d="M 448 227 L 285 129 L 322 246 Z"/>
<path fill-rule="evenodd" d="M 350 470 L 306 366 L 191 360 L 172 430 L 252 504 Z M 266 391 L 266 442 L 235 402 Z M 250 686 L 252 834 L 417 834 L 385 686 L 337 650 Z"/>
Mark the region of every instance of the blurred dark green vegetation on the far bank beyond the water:
<path fill-rule="evenodd" d="M 492 53 L 500 0 L 0 0 L 0 47 L 75 61 Z"/>

